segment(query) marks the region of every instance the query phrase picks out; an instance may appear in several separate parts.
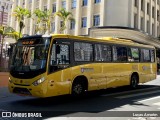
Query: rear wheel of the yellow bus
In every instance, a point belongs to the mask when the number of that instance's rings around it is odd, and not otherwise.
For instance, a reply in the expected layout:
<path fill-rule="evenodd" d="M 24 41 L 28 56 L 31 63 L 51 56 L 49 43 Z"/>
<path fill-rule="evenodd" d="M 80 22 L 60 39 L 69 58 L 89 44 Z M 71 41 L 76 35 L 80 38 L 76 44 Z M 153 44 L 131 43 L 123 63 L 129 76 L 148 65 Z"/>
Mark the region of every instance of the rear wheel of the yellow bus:
<path fill-rule="evenodd" d="M 131 76 L 130 86 L 132 89 L 136 89 L 139 83 L 139 77 L 137 74 Z"/>

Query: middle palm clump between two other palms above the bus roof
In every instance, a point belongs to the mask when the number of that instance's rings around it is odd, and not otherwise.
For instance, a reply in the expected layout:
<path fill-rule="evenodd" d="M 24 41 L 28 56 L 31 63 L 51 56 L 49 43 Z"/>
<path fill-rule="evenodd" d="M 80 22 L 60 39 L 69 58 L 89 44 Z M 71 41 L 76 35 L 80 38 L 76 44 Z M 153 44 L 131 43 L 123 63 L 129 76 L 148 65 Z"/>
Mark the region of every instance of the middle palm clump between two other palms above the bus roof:
<path fill-rule="evenodd" d="M 36 26 L 36 33 L 38 31 L 44 31 L 44 33 L 50 33 L 50 26 L 51 26 L 51 20 L 53 19 L 52 12 L 50 10 L 47 11 L 41 11 L 40 9 L 36 9 L 34 11 L 35 16 L 37 17 L 37 26 Z M 44 26 L 40 27 L 39 24 L 42 23 Z"/>

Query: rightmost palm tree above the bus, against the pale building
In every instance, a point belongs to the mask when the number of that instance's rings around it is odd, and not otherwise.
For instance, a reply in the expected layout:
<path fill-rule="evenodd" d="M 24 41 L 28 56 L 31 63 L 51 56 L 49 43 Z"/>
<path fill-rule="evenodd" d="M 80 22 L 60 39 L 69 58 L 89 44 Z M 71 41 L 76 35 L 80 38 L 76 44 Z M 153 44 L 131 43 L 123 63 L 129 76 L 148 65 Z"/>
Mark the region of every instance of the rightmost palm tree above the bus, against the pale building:
<path fill-rule="evenodd" d="M 55 16 L 60 17 L 62 20 L 60 33 L 64 32 L 64 30 L 67 28 L 68 21 L 70 21 L 70 20 L 75 21 L 75 19 L 73 18 L 73 14 L 71 12 L 66 11 L 64 8 L 62 8 L 61 10 L 56 12 Z"/>

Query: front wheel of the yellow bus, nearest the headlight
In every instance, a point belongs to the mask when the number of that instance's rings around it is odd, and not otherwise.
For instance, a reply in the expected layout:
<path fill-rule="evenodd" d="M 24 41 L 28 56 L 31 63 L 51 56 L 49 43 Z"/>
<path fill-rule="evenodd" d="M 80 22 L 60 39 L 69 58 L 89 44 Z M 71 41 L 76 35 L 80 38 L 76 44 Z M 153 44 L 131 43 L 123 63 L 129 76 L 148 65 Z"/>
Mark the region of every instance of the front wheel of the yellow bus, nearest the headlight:
<path fill-rule="evenodd" d="M 86 84 L 80 79 L 76 79 L 72 84 L 72 95 L 82 96 L 86 91 Z"/>

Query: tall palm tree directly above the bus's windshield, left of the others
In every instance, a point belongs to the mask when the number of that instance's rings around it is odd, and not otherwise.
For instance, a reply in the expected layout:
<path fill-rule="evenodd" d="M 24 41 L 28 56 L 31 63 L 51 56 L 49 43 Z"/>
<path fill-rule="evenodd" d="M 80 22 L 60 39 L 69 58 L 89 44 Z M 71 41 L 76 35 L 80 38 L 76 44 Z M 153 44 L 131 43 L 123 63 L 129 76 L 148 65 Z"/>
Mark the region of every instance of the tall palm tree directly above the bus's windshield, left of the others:
<path fill-rule="evenodd" d="M 18 24 L 19 24 L 19 38 L 22 33 L 23 28 L 25 27 L 24 25 L 24 19 L 25 18 L 30 18 L 31 17 L 31 12 L 28 9 L 22 8 L 22 7 L 16 7 L 14 10 L 13 15 L 17 18 Z"/>

